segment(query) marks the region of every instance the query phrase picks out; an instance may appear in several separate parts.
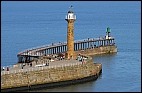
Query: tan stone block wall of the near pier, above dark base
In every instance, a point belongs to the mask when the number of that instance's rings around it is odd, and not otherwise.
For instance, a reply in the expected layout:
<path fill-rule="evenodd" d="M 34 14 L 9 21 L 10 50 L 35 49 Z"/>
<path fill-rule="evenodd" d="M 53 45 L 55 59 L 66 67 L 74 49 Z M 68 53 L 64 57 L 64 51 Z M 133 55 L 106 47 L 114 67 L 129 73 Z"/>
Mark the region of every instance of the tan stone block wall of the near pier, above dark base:
<path fill-rule="evenodd" d="M 101 70 L 101 64 L 89 60 L 79 65 L 5 74 L 1 76 L 1 89 L 81 79 L 93 75 L 98 76 Z"/>

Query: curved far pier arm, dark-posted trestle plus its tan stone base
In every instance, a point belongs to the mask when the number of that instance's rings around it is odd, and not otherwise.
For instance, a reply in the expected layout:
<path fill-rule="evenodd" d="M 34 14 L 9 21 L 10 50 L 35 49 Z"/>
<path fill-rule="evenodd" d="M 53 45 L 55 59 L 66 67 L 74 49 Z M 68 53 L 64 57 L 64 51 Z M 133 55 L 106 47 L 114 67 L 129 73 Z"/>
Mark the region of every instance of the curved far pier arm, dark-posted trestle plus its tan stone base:
<path fill-rule="evenodd" d="M 105 37 L 88 38 L 77 40 L 74 42 L 74 51 L 85 55 L 103 54 L 117 52 L 117 47 L 114 42 L 114 37 L 106 39 Z M 84 51 L 84 52 L 83 52 Z M 67 43 L 59 42 L 51 45 L 43 45 L 31 49 L 26 49 L 18 53 L 18 62 L 31 62 L 34 58 L 39 58 L 45 55 L 54 55 L 67 52 Z"/>

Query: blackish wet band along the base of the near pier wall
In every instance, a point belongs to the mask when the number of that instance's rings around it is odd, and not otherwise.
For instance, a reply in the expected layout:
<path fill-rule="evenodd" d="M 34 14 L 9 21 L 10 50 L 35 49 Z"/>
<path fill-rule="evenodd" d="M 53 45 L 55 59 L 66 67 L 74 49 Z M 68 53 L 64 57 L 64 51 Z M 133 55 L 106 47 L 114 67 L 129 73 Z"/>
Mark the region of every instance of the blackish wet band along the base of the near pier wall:
<path fill-rule="evenodd" d="M 42 90 L 42 89 L 47 89 L 47 88 L 49 89 L 49 88 L 56 88 L 56 87 L 61 87 L 61 86 L 81 84 L 81 83 L 85 83 L 85 82 L 88 82 L 88 81 L 96 80 L 101 74 L 102 74 L 102 69 L 99 71 L 99 74 L 92 75 L 92 76 L 89 76 L 89 77 L 67 80 L 67 81 L 60 81 L 60 82 L 31 85 L 30 87 L 24 86 L 24 87 L 1 89 L 1 92 L 15 92 L 15 91 L 28 91 L 28 90 L 35 90 L 36 91 L 36 90 L 39 90 L 39 89 Z"/>

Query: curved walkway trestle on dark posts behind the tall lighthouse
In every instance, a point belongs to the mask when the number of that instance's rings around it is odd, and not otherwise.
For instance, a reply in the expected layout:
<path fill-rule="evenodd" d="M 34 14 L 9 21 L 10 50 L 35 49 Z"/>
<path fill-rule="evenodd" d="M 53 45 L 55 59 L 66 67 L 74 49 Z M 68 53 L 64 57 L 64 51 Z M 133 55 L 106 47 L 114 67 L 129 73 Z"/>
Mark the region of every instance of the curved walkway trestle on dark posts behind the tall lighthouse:
<path fill-rule="evenodd" d="M 74 42 L 74 51 L 93 49 L 102 46 L 113 46 L 115 45 L 114 37 L 106 39 L 104 37 L 101 38 L 88 38 L 86 40 L 78 40 Z M 67 43 L 56 43 L 51 45 L 44 45 L 41 47 L 27 49 L 18 53 L 18 63 L 29 63 L 34 60 L 34 58 L 38 58 L 44 55 L 53 55 L 58 53 L 65 53 L 67 51 Z"/>

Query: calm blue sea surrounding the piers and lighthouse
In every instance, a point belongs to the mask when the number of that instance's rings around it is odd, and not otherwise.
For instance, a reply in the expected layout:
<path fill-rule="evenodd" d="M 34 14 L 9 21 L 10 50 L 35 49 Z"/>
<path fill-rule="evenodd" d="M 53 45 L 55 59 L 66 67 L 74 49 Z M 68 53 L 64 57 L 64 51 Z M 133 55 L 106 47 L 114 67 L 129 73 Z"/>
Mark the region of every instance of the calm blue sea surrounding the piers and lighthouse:
<path fill-rule="evenodd" d="M 46 92 L 140 92 L 141 2 L 138 1 L 2 1 L 1 66 L 17 63 L 28 48 L 66 41 L 65 15 L 69 6 L 77 16 L 75 40 L 105 36 L 111 28 L 118 53 L 94 56 L 102 75 L 83 84 L 43 89 Z"/>

